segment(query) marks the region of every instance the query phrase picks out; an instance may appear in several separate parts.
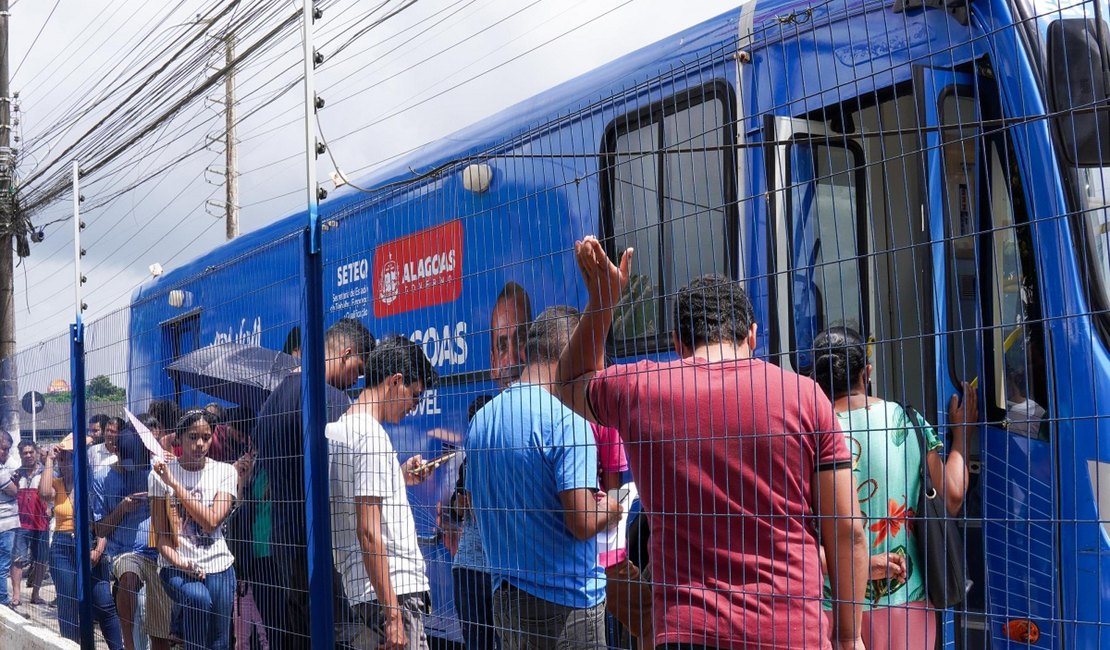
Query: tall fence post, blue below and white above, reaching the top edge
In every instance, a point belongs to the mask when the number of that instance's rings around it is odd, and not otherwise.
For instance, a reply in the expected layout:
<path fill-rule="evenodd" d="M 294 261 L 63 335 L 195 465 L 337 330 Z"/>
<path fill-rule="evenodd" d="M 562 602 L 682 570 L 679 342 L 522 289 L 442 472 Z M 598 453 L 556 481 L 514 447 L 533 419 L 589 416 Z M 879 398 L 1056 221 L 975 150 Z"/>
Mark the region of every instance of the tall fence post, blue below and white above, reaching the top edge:
<path fill-rule="evenodd" d="M 304 135 L 309 222 L 304 245 L 304 337 L 301 347 L 301 386 L 304 392 L 304 497 L 309 555 L 309 631 L 313 648 L 335 644 L 332 593 L 332 530 L 327 498 L 327 424 L 324 396 L 324 261 L 316 194 L 316 90 L 313 0 L 304 0 Z"/>

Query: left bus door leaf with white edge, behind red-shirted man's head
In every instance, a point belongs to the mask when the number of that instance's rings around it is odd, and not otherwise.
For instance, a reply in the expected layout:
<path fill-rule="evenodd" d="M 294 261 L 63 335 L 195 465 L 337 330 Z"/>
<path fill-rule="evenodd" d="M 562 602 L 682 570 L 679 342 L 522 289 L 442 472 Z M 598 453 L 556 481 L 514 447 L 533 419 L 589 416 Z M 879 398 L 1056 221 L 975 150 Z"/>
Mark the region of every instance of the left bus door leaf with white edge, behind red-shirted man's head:
<path fill-rule="evenodd" d="M 773 352 L 807 373 L 821 329 L 870 332 L 864 149 L 818 121 L 768 118 L 765 130 L 775 156 Z"/>

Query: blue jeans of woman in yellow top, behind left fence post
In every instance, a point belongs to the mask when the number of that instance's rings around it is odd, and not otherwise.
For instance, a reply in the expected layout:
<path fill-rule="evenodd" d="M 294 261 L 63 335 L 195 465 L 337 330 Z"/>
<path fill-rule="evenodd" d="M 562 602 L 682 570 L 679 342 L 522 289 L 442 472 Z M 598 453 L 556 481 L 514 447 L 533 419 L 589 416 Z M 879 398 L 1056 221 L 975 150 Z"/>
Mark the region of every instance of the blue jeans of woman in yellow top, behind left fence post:
<path fill-rule="evenodd" d="M 92 616 L 100 626 L 110 650 L 123 648 L 123 632 L 115 615 L 115 600 L 109 580 L 107 561 L 97 562 L 92 568 Z M 62 637 L 79 641 L 78 593 L 77 593 L 77 547 L 72 532 L 56 532 L 50 547 L 50 576 L 58 591 L 58 628 Z"/>

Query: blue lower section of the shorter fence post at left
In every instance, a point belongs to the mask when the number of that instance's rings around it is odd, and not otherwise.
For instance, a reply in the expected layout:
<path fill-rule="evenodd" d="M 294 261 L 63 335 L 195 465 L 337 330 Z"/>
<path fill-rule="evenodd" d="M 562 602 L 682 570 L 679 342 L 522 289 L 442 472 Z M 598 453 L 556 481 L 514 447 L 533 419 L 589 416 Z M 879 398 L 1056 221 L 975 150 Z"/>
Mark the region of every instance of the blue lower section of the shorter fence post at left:
<path fill-rule="evenodd" d="M 94 648 L 92 638 L 92 562 L 89 545 L 89 454 L 84 440 L 84 325 L 80 316 L 70 325 L 70 386 L 73 409 L 73 541 L 77 548 L 78 626 L 82 648 Z"/>

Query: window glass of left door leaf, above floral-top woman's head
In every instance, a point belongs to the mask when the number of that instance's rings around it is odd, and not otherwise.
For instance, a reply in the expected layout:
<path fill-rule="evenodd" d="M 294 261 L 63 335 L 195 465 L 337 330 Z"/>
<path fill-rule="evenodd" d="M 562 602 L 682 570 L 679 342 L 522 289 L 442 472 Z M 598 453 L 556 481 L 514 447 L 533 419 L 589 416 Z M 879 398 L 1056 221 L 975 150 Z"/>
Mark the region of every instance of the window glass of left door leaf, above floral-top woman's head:
<path fill-rule="evenodd" d="M 790 145 L 788 161 L 791 345 L 795 367 L 805 372 L 821 329 L 845 326 L 868 334 L 862 152 L 798 141 Z"/>

